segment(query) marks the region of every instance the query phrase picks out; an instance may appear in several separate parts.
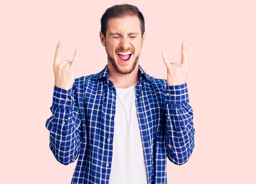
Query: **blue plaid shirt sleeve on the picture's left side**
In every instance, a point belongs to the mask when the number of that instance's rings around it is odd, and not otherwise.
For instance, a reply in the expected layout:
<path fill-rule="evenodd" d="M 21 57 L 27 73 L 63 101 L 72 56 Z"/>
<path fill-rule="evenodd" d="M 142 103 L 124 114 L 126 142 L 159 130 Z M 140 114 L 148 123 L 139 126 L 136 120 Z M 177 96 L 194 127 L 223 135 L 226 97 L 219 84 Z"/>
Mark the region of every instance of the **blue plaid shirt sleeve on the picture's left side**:
<path fill-rule="evenodd" d="M 54 85 L 52 116 L 46 121 L 49 147 L 61 164 L 73 163 L 81 150 L 81 117 L 75 83 L 66 90 Z"/>

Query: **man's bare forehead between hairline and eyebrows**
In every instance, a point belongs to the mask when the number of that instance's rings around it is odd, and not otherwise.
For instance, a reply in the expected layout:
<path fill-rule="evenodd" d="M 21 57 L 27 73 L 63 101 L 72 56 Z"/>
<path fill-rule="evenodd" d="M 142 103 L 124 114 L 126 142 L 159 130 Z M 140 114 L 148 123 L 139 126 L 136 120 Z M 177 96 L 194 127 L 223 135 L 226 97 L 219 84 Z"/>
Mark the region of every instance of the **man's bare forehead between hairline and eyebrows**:
<path fill-rule="evenodd" d="M 111 18 L 108 20 L 107 34 L 119 32 L 120 34 L 129 32 L 140 33 L 140 19 L 137 16 Z"/>

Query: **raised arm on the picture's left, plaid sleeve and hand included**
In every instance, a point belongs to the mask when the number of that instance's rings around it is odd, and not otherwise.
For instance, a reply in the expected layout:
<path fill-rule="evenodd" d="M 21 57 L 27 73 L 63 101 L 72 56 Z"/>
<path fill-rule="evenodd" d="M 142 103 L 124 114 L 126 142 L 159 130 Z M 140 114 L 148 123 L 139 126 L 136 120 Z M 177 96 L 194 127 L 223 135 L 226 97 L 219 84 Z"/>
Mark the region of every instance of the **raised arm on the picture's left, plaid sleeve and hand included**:
<path fill-rule="evenodd" d="M 45 126 L 49 130 L 49 147 L 53 155 L 58 162 L 67 165 L 74 162 L 79 156 L 82 129 L 74 82 L 78 50 L 76 50 L 73 61 L 61 61 L 61 45 L 58 42 L 53 65 L 55 85 L 50 107 L 52 116 L 47 119 Z"/>

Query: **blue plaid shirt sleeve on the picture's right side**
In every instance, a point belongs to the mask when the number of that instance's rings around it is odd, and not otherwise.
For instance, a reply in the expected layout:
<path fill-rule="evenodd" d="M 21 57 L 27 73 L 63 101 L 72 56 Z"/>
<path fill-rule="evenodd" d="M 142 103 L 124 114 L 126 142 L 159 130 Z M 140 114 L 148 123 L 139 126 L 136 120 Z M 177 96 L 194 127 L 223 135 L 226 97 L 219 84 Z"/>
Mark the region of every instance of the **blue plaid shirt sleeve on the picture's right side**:
<path fill-rule="evenodd" d="M 166 86 L 166 155 L 172 163 L 186 163 L 195 147 L 193 110 L 189 104 L 187 83 Z"/>

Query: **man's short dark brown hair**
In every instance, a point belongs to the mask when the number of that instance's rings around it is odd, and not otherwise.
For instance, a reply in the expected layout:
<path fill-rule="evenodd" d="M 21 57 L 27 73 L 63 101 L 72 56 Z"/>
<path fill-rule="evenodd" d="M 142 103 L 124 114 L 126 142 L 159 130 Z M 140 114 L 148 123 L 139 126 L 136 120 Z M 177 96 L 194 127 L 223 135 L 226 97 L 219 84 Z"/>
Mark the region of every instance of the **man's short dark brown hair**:
<path fill-rule="evenodd" d="M 102 18 L 100 19 L 101 32 L 105 38 L 108 29 L 108 20 L 114 17 L 122 18 L 125 16 L 137 16 L 139 18 L 141 37 L 143 37 L 145 31 L 145 20 L 143 14 L 140 12 L 137 6 L 124 3 L 111 6 L 110 8 L 106 9 L 105 13 L 102 15 Z"/>

